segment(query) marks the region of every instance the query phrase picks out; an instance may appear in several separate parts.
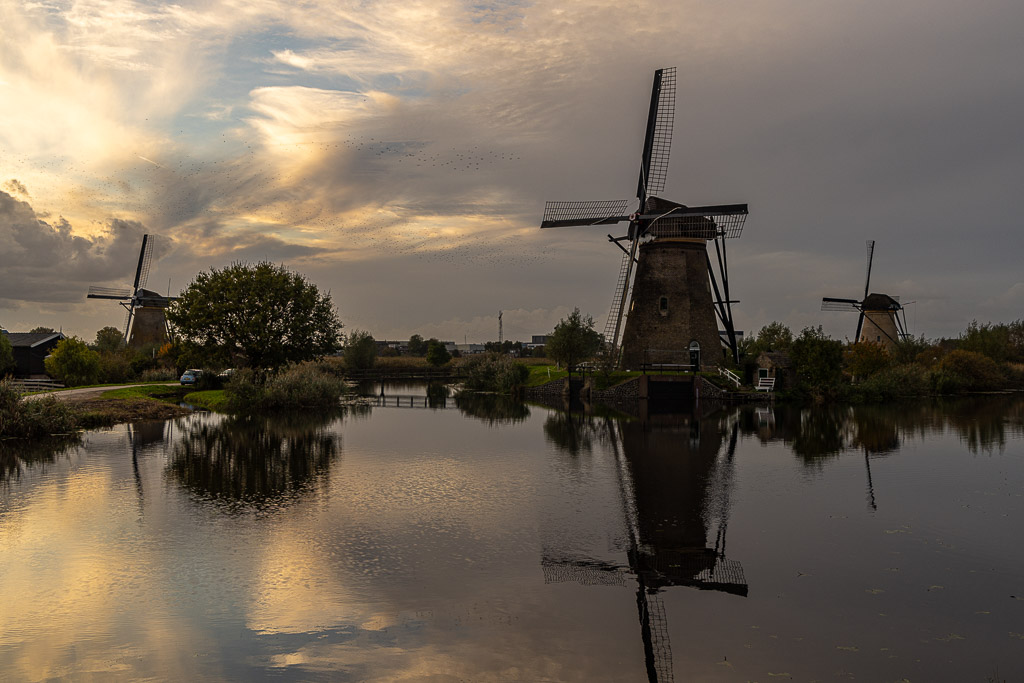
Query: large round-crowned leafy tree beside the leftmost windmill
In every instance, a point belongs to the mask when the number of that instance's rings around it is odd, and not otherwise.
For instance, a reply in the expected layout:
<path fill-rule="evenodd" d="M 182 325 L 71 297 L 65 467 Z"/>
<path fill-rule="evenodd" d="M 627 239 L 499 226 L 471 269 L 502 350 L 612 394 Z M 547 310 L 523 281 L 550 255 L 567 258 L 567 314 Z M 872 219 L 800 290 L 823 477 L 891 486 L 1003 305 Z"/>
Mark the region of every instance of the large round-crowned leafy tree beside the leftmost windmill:
<path fill-rule="evenodd" d="M 265 261 L 199 273 L 167 317 L 190 362 L 275 371 L 340 348 L 331 295 Z"/>

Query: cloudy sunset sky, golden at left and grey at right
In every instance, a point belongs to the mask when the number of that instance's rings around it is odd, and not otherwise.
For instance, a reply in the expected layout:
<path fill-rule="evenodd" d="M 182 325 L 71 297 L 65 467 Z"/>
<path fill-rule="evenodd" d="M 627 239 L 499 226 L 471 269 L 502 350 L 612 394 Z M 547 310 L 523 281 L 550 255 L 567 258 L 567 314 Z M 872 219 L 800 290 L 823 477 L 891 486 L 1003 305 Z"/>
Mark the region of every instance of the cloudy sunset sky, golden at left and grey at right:
<path fill-rule="evenodd" d="M 909 331 L 1024 317 L 1019 0 L 0 0 L 0 326 L 91 341 L 90 285 L 237 261 L 330 291 L 345 331 L 527 341 L 603 329 L 655 69 L 676 67 L 664 197 L 746 203 L 736 327 L 852 337 L 822 296 L 900 297 Z M 614 228 L 620 232 L 624 227 Z M 913 302 L 913 303 L 910 303 Z"/>

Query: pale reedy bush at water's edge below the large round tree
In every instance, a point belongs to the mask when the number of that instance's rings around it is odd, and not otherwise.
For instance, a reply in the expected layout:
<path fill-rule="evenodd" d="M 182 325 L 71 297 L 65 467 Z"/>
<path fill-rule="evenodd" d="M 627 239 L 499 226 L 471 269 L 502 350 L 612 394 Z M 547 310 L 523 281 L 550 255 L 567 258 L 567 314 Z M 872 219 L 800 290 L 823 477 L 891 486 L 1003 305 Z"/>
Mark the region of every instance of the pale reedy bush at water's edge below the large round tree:
<path fill-rule="evenodd" d="M 231 412 L 263 412 L 338 405 L 345 385 L 315 365 L 291 368 L 260 381 L 251 370 L 239 370 L 225 386 Z"/>

